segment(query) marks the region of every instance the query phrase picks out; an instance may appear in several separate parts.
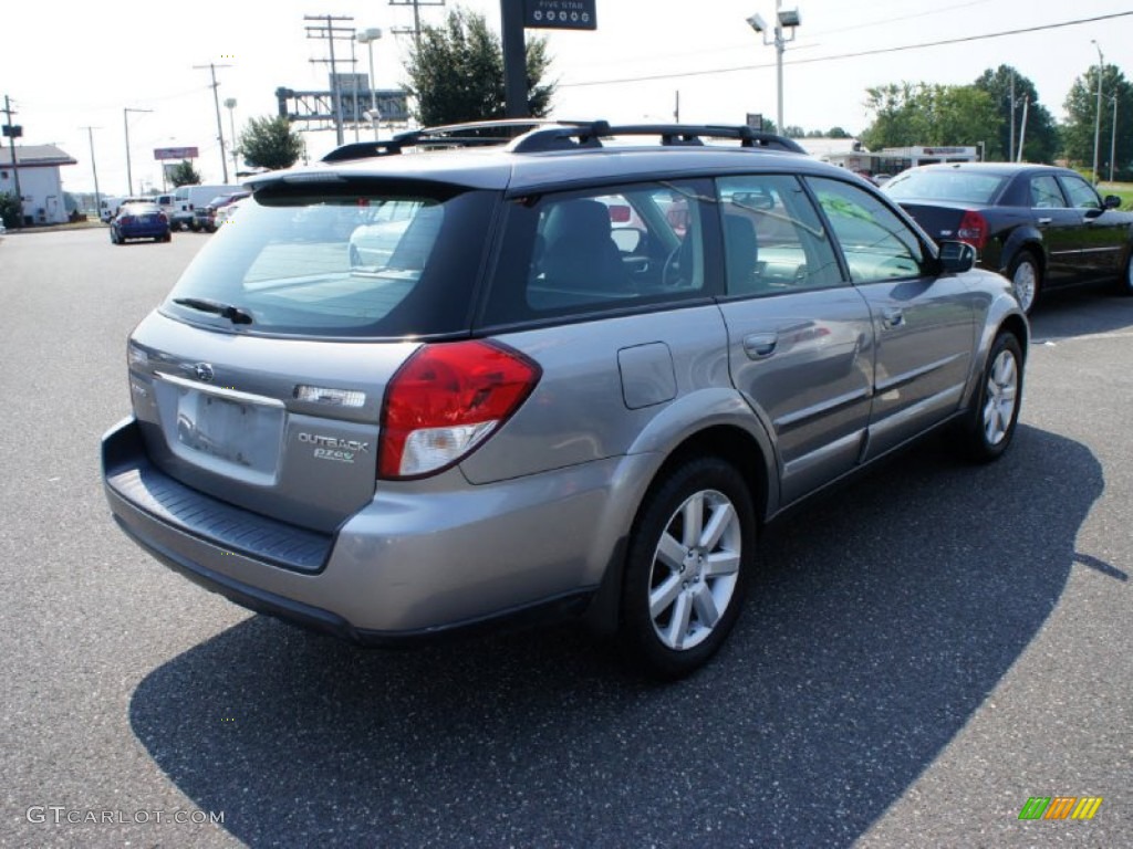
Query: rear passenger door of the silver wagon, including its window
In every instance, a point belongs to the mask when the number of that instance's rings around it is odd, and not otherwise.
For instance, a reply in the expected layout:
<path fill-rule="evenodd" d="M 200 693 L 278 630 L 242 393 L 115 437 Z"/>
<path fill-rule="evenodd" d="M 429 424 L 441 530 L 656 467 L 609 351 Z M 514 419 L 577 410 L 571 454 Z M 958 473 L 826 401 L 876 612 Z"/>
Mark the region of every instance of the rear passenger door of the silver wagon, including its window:
<path fill-rule="evenodd" d="M 874 383 L 869 308 L 799 180 L 717 180 L 732 380 L 775 436 L 783 504 L 861 456 Z"/>

